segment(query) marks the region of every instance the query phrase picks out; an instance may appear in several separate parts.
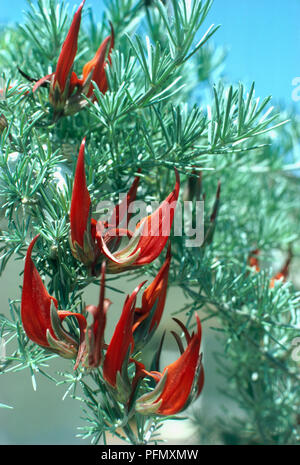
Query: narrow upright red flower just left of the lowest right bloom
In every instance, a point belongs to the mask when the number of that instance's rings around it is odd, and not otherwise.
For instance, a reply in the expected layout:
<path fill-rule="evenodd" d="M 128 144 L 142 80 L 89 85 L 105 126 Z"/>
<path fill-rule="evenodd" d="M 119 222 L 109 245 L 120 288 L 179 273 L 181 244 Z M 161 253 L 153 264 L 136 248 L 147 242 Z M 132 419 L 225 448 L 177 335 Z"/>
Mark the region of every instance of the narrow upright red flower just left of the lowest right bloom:
<path fill-rule="evenodd" d="M 126 400 L 131 393 L 127 371 L 129 357 L 134 348 L 132 326 L 135 302 L 136 296 L 143 285 L 144 283 L 141 283 L 130 297 L 129 295 L 127 296 L 103 363 L 103 377 L 105 381 L 112 388 L 116 389 L 122 399 Z"/>

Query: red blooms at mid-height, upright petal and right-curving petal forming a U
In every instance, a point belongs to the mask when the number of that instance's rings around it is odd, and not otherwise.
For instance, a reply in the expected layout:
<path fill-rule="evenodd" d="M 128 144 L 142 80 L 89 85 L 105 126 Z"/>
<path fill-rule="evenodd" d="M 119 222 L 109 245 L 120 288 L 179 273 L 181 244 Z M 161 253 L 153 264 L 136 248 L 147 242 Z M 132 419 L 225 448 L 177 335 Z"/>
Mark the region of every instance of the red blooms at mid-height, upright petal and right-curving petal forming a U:
<path fill-rule="evenodd" d="M 125 199 L 115 207 L 108 222 L 91 218 L 91 199 L 86 185 L 84 168 L 85 139 L 83 140 L 75 172 L 70 225 L 71 250 L 75 258 L 90 267 L 95 274 L 99 258 L 107 259 L 107 272 L 119 273 L 139 267 L 155 260 L 165 247 L 170 236 L 174 212 L 179 195 L 179 174 L 175 169 L 174 190 L 161 205 L 148 217 L 143 218 L 134 232 L 129 231 L 129 205 L 135 200 L 139 177 L 137 176 Z M 126 218 L 126 227 L 120 224 Z M 120 235 L 128 236 L 126 247 L 115 251 Z"/>

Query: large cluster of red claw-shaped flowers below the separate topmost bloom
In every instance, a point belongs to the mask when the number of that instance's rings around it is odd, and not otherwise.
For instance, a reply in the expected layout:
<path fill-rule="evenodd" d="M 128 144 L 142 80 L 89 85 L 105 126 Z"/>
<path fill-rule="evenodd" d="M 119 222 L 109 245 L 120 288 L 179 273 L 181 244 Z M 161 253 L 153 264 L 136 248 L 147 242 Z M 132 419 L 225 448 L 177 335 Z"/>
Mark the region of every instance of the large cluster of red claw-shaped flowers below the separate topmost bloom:
<path fill-rule="evenodd" d="M 116 325 L 110 344 L 104 342 L 107 310 L 111 302 L 105 298 L 106 272 L 118 273 L 124 269 L 141 266 L 152 262 L 162 252 L 168 236 L 142 236 L 142 225 L 151 222 L 153 217 L 163 221 L 164 207 L 173 199 L 177 200 L 179 192 L 178 174 L 174 191 L 162 202 L 159 208 L 137 226 L 134 233 L 128 233 L 129 244 L 134 239 L 135 246 L 130 246 L 131 253 L 109 252 L 107 236 L 109 225 L 103 225 L 90 219 L 90 197 L 86 188 L 84 175 L 84 142 L 81 146 L 76 168 L 73 195 L 71 202 L 70 238 L 72 250 L 76 258 L 94 267 L 101 262 L 101 285 L 98 306 L 89 305 L 87 313 L 93 317 L 88 326 L 86 317 L 81 313 L 58 310 L 57 300 L 50 296 L 32 261 L 32 249 L 39 236 L 36 236 L 27 251 L 22 291 L 21 317 L 27 336 L 40 346 L 65 358 L 76 358 L 75 368 L 82 364 L 85 367 L 102 367 L 103 378 L 114 390 L 119 401 L 129 402 L 134 395 L 139 381 L 144 377 L 152 377 L 156 388 L 150 394 L 144 394 L 136 401 L 136 409 L 141 413 L 156 412 L 161 415 L 175 414 L 184 409 L 191 399 L 198 396 L 204 382 L 201 363 L 201 325 L 198 316 L 197 332 L 189 334 L 184 325 L 176 320 L 184 331 L 187 347 L 179 359 L 168 365 L 162 373 L 147 371 L 145 366 L 132 357 L 148 342 L 158 327 L 166 301 L 168 274 L 171 261 L 170 245 L 165 261 L 152 283 L 144 290 L 141 306 L 136 306 L 137 295 L 145 282 L 141 283 L 131 295 L 125 299 L 121 317 Z M 138 180 L 133 183 L 128 197 L 133 198 Z M 129 203 L 130 205 L 130 203 Z M 122 205 L 118 205 L 113 215 L 122 217 Z M 169 218 L 168 218 L 169 220 Z M 173 218 L 170 220 L 170 228 Z M 98 224 L 100 223 L 100 224 Z M 115 239 L 119 239 L 115 236 Z M 88 245 L 88 247 L 87 247 Z M 108 253 L 109 252 L 109 253 Z M 118 254 L 118 260 L 115 256 Z M 121 260 L 120 257 L 123 257 Z M 124 258 L 125 257 L 125 258 Z M 79 328 L 78 339 L 71 336 L 62 326 L 67 317 L 74 317 Z M 179 341 L 177 337 L 176 340 Z M 105 353 L 105 355 L 104 355 Z M 135 376 L 129 381 L 128 368 L 135 364 Z"/>

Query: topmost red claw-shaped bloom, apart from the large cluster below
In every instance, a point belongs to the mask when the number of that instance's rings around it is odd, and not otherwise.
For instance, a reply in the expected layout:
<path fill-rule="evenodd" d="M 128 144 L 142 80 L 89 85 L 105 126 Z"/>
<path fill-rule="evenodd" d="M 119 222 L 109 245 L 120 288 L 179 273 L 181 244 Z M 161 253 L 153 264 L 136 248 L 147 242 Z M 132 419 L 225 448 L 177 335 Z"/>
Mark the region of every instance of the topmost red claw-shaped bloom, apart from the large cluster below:
<path fill-rule="evenodd" d="M 84 65 L 82 78 L 79 79 L 73 71 L 84 3 L 85 0 L 82 1 L 73 17 L 57 61 L 55 72 L 39 79 L 33 87 L 33 92 L 35 92 L 39 87 L 50 84 L 49 101 L 54 108 L 55 115 L 58 116 L 74 114 L 83 108 L 87 104 L 84 96 L 94 98 L 94 87 L 91 81 L 97 84 L 103 94 L 107 91 L 108 87 L 105 66 L 107 64 L 106 58 L 108 58 L 108 62 L 111 62 L 110 53 L 114 47 L 112 25 L 111 34 L 104 39 L 94 58 Z M 109 51 L 107 53 L 108 47 Z M 25 75 L 24 73 L 22 74 Z M 29 80 L 32 79 L 29 78 Z"/>

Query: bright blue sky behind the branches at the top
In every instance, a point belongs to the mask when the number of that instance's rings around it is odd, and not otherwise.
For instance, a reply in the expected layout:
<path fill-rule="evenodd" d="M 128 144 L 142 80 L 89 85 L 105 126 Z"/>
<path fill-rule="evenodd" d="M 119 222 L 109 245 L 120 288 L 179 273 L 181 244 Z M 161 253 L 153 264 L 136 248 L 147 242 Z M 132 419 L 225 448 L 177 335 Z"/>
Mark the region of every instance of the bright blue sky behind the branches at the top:
<path fill-rule="evenodd" d="M 1 23 L 22 21 L 26 0 L 0 2 Z M 68 3 L 72 7 L 80 0 Z M 103 1 L 87 4 L 97 17 Z M 226 74 L 233 82 L 255 81 L 257 95 L 272 95 L 275 102 L 289 106 L 292 80 L 300 76 L 299 18 L 300 0 L 214 0 L 206 24 L 221 24 L 214 41 L 228 48 Z"/>

